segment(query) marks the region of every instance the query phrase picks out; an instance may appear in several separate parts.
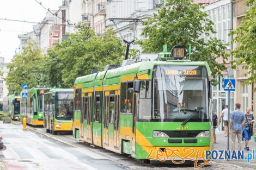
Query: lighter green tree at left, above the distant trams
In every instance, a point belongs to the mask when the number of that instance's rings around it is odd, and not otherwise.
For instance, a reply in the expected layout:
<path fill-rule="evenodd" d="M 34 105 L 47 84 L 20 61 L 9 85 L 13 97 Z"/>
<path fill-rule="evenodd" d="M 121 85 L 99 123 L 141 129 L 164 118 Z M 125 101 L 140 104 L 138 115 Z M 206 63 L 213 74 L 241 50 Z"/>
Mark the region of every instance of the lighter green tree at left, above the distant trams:
<path fill-rule="evenodd" d="M 20 94 L 22 84 L 27 83 L 29 87 L 34 87 L 37 82 L 34 74 L 44 72 L 45 56 L 33 41 L 29 41 L 23 52 L 17 55 L 7 66 L 9 73 L 5 81 L 8 85 L 9 94 Z M 46 75 L 47 77 L 47 75 Z M 40 85 L 48 85 L 46 79 Z"/>

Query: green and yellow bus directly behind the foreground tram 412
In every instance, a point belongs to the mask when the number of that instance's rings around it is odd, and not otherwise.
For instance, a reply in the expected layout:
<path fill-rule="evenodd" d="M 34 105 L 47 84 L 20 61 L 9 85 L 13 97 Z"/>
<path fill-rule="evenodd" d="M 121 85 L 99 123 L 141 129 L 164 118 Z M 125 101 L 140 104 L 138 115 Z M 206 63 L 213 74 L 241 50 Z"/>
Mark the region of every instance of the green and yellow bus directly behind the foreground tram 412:
<path fill-rule="evenodd" d="M 74 89 L 51 89 L 44 95 L 44 127 L 46 132 L 58 132 L 73 128 Z"/>

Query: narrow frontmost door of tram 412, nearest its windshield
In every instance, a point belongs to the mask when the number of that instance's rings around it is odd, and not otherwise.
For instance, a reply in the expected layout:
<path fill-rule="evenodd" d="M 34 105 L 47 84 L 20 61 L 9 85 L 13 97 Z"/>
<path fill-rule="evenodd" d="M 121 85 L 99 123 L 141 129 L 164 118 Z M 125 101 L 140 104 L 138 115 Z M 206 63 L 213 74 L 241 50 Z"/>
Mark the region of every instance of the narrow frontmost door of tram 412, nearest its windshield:
<path fill-rule="evenodd" d="M 136 144 L 136 121 L 137 121 L 137 109 L 138 103 L 137 103 L 137 93 L 133 93 L 133 108 L 132 108 L 132 155 L 135 156 L 135 144 Z"/>

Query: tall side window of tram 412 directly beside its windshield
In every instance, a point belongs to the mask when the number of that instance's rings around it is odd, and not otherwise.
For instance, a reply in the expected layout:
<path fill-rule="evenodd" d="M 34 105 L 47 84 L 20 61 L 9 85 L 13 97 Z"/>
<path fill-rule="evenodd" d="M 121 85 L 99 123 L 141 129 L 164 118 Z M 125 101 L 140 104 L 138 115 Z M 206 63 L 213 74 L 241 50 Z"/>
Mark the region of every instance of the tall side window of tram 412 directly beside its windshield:
<path fill-rule="evenodd" d="M 150 121 L 151 119 L 151 81 L 141 80 L 141 92 L 139 93 L 139 121 Z"/>

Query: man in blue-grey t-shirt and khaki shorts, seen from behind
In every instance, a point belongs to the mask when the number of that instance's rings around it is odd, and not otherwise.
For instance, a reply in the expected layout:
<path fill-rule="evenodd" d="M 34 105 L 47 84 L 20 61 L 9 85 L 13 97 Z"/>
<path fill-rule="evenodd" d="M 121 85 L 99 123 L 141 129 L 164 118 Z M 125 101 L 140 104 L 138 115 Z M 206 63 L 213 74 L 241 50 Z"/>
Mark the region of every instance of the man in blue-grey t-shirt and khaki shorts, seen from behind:
<path fill-rule="evenodd" d="M 230 115 L 231 152 L 235 150 L 235 138 L 237 136 L 238 149 L 242 150 L 242 129 L 245 125 L 245 114 L 240 110 L 241 104 L 235 104 L 235 110 Z"/>

